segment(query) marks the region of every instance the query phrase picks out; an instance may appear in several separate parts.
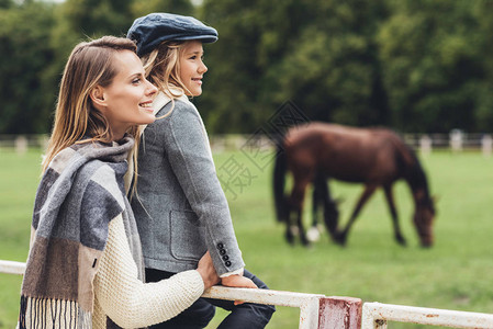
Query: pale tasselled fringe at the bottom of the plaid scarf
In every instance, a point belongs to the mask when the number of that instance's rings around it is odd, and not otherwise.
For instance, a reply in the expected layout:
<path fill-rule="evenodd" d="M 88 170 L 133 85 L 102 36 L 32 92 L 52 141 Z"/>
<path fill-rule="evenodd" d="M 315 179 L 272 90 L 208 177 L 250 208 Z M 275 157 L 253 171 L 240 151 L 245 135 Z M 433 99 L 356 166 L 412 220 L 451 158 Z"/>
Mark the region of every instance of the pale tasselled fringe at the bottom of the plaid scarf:
<path fill-rule="evenodd" d="M 92 328 L 92 314 L 77 302 L 21 296 L 19 329 Z"/>

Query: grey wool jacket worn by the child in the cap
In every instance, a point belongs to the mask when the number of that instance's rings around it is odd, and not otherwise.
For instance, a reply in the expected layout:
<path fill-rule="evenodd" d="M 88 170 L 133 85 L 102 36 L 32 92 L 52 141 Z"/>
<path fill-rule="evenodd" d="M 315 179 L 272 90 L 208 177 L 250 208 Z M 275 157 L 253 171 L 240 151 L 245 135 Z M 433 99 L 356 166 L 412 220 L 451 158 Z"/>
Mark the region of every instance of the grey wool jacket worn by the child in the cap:
<path fill-rule="evenodd" d="M 156 103 L 166 103 L 160 93 Z M 145 128 L 132 208 L 146 268 L 195 269 L 210 251 L 217 274 L 245 266 L 209 138 L 195 106 L 181 97 L 166 103 Z"/>

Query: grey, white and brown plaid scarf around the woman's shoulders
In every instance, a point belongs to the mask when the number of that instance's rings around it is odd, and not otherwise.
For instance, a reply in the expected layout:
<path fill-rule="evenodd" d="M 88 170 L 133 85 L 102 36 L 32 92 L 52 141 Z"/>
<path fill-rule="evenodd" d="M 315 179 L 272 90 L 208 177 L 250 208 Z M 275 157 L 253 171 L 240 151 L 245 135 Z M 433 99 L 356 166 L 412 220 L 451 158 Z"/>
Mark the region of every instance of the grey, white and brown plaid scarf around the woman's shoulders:
<path fill-rule="evenodd" d="M 91 328 L 98 261 L 119 214 L 143 279 L 141 241 L 123 186 L 133 145 L 128 136 L 113 145 L 76 144 L 49 163 L 34 202 L 21 329 Z M 108 320 L 110 327 L 115 325 Z"/>

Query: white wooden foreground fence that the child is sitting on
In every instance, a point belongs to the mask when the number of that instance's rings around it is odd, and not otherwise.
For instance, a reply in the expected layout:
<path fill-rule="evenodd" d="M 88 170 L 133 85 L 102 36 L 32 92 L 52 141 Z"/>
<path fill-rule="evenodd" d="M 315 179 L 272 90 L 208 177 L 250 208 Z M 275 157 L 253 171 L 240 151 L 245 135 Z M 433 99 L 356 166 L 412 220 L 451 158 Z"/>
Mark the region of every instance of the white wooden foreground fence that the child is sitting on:
<path fill-rule="evenodd" d="M 22 275 L 25 263 L 0 260 L 0 273 Z M 359 298 L 213 286 L 203 297 L 300 308 L 300 329 L 386 329 L 388 321 L 453 328 L 493 328 L 493 314 L 425 308 Z M 361 310 L 362 306 L 362 310 Z"/>

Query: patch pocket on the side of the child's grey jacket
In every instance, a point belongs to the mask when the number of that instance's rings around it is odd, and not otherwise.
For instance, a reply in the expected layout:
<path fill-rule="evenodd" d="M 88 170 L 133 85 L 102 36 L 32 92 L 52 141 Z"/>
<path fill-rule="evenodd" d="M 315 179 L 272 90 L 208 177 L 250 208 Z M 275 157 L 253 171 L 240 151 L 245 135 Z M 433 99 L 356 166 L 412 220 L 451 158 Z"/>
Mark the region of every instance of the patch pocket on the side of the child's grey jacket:
<path fill-rule="evenodd" d="M 202 238 L 203 227 L 195 213 L 191 211 L 171 211 L 171 256 L 178 260 L 199 261 L 208 251 Z"/>

